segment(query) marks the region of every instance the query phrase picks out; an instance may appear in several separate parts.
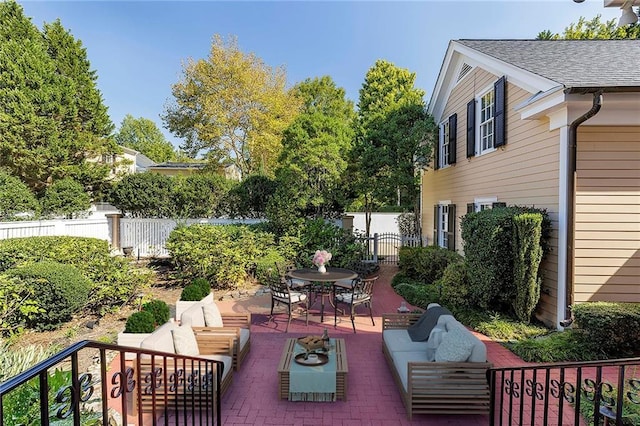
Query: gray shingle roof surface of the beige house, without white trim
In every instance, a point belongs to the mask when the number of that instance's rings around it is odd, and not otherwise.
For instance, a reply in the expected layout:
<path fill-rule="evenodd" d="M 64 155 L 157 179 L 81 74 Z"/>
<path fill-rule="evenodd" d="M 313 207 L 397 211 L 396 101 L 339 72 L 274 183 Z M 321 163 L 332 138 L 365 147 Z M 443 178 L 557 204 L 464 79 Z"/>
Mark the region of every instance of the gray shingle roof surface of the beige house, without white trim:
<path fill-rule="evenodd" d="M 456 40 L 567 88 L 640 87 L 640 40 Z"/>

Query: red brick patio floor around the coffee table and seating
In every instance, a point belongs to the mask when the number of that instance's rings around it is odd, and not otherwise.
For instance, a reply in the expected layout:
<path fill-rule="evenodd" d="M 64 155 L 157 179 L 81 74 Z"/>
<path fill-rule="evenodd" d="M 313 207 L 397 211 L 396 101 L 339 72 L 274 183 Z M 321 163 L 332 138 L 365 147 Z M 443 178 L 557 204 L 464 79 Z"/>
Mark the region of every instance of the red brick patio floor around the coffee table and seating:
<path fill-rule="evenodd" d="M 356 317 L 357 333 L 353 333 L 348 317 L 333 327 L 333 310 L 327 309 L 323 324 L 320 317 L 294 317 L 285 333 L 286 312 L 269 322 L 271 298 L 256 296 L 246 300 L 219 301 L 222 311 L 252 312 L 251 352 L 234 374 L 233 385 L 222 400 L 222 421 L 225 425 L 487 425 L 488 416 L 414 415 L 413 421 L 400 399 L 393 377 L 382 353 L 381 314 L 395 312 L 403 300 L 390 286 L 397 272 L 395 266 L 382 266 L 374 291 L 374 319 L 368 315 Z M 317 304 L 319 305 L 319 303 Z M 412 306 L 409 306 L 413 308 Z M 315 306 L 318 308 L 318 306 Z M 282 312 L 282 311 L 280 311 Z M 313 312 L 313 311 L 312 311 Z M 366 309 L 363 311 L 366 312 Z M 325 312 L 327 313 L 327 312 Z M 340 318 L 339 318 L 340 319 Z M 322 334 L 324 327 L 332 337 L 346 341 L 349 363 L 347 401 L 333 403 L 289 402 L 278 400 L 277 368 L 285 340 L 307 334 Z M 478 335 L 487 345 L 489 361 L 495 366 L 526 364 L 513 353 Z"/>

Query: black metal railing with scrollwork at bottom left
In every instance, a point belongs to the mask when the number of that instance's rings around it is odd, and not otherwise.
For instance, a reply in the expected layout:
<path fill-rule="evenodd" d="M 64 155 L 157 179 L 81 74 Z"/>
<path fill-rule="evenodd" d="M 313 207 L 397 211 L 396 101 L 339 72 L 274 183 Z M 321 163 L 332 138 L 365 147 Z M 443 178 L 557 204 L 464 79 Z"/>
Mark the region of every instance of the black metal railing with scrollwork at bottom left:
<path fill-rule="evenodd" d="M 82 341 L 0 383 L 0 426 L 220 425 L 221 361 Z"/>

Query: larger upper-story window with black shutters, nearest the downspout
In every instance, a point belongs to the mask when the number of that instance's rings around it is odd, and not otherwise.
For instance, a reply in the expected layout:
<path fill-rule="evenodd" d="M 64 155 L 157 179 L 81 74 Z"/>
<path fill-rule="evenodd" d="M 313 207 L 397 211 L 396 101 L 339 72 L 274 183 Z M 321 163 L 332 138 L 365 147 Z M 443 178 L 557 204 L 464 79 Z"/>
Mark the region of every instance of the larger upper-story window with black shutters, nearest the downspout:
<path fill-rule="evenodd" d="M 467 103 L 467 158 L 492 152 L 507 143 L 506 85 L 502 77 Z"/>

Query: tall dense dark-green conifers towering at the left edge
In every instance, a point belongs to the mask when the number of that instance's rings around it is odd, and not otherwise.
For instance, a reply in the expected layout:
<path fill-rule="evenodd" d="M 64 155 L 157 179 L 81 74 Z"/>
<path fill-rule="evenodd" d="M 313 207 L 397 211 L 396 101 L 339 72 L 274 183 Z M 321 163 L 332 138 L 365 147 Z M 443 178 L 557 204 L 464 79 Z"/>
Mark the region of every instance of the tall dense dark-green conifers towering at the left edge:
<path fill-rule="evenodd" d="M 41 33 L 15 1 L 0 3 L 0 166 L 36 191 L 72 177 L 85 187 L 117 152 L 82 44 L 59 22 Z"/>

